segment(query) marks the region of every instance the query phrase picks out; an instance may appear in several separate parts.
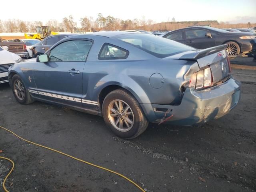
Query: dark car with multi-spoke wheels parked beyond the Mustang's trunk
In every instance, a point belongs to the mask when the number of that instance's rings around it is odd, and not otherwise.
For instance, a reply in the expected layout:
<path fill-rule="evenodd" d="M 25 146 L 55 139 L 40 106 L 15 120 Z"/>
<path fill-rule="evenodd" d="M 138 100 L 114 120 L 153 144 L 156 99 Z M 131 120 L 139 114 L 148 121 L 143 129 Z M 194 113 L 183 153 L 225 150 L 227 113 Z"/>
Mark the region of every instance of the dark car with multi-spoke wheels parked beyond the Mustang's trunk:
<path fill-rule="evenodd" d="M 174 30 L 163 37 L 197 49 L 228 44 L 226 50 L 231 57 L 256 51 L 256 36 L 248 32 L 229 32 L 214 27 L 193 26 Z"/>

